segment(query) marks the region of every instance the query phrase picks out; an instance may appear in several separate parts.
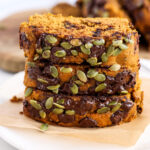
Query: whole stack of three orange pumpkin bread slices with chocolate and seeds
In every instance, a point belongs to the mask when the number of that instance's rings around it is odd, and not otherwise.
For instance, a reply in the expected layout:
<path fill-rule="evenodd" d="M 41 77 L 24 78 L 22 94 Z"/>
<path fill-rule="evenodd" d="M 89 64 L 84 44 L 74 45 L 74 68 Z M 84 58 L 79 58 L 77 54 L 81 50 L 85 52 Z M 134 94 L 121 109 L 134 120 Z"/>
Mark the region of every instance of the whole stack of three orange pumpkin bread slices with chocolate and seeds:
<path fill-rule="evenodd" d="M 126 19 L 34 15 L 20 26 L 24 114 L 61 126 L 105 127 L 142 112 L 139 36 Z"/>

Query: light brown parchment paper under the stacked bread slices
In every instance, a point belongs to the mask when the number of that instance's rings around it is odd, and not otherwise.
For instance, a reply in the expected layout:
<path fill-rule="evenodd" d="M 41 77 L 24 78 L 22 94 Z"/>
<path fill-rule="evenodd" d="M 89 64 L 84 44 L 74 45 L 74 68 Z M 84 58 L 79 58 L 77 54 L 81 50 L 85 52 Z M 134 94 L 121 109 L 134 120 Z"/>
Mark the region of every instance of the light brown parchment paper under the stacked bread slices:
<path fill-rule="evenodd" d="M 96 129 L 66 128 L 50 125 L 48 131 L 43 134 L 70 136 L 86 141 L 106 144 L 118 144 L 123 146 L 134 145 L 150 123 L 150 79 L 142 80 L 142 90 L 144 90 L 144 111 L 138 118 L 130 123 Z M 12 103 L 8 100 L 1 104 L 0 125 L 40 131 L 39 127 L 41 123 L 21 115 L 19 113 L 20 111 L 22 111 L 22 103 Z M 32 130 L 30 132 L 32 132 Z"/>

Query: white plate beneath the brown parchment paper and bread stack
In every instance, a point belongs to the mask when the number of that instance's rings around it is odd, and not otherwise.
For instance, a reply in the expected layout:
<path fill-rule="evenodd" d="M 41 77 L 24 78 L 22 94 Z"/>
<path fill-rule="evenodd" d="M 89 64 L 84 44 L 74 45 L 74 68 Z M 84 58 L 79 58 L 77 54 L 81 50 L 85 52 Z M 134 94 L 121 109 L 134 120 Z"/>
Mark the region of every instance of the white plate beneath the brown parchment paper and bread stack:
<path fill-rule="evenodd" d="M 0 99 L 1 103 L 9 100 L 13 95 L 20 93 L 24 90 L 23 85 L 24 73 L 18 73 L 10 80 L 5 82 L 3 86 L 0 87 Z M 76 149 L 86 149 L 86 150 L 125 150 L 125 149 L 136 149 L 136 150 L 149 150 L 150 149 L 150 127 L 146 129 L 144 134 L 141 136 L 139 141 L 134 147 L 120 147 L 116 145 L 105 145 L 101 143 L 87 142 L 78 140 L 76 138 L 68 138 L 63 136 L 53 136 L 46 135 L 38 131 L 24 130 L 16 128 L 6 128 L 0 126 L 0 137 L 4 139 L 9 144 L 18 148 L 19 150 L 46 150 L 55 148 L 55 150 L 76 150 Z M 32 136 L 36 134 L 36 138 Z M 44 136 L 43 136 L 44 135 Z M 115 138 L 115 137 L 114 137 Z M 129 140 L 129 139 L 127 139 Z"/>

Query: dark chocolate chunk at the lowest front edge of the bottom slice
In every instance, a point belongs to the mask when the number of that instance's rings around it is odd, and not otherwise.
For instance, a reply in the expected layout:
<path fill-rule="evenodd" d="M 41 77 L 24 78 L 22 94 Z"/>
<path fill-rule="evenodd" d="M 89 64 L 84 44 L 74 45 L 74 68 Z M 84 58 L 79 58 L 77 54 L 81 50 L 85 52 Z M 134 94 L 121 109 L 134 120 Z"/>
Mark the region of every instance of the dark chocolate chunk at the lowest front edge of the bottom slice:
<path fill-rule="evenodd" d="M 97 122 L 91 118 L 85 117 L 79 121 L 79 125 L 83 128 L 93 128 L 97 127 Z"/>

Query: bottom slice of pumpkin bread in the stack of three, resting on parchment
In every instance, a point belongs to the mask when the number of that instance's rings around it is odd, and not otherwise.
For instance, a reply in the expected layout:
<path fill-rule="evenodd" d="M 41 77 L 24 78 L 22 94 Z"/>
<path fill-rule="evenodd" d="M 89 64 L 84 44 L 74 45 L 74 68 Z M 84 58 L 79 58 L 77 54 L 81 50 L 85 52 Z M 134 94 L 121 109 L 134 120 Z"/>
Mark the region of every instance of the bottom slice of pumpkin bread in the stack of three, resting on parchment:
<path fill-rule="evenodd" d="M 67 127 L 106 127 L 136 118 L 142 111 L 143 92 L 95 97 L 55 95 L 34 89 L 23 105 L 24 114 L 40 122 Z"/>

